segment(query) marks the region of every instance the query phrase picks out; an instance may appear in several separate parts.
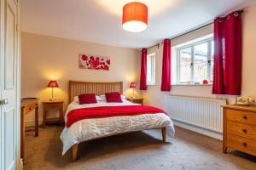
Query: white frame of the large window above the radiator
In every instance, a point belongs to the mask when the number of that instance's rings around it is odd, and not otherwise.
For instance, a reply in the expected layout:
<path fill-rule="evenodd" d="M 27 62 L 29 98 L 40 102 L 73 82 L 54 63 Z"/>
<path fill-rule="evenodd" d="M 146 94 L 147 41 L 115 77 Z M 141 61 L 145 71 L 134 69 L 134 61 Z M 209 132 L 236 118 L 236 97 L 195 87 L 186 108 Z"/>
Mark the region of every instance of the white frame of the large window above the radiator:
<path fill-rule="evenodd" d="M 212 55 L 212 42 L 213 37 L 208 37 L 206 39 L 203 39 L 198 42 L 192 42 L 187 45 L 184 45 L 182 47 L 177 48 L 177 84 L 178 85 L 189 85 L 188 82 L 180 82 L 180 51 L 185 49 L 185 48 L 191 48 L 191 64 L 190 64 L 190 84 L 195 85 L 198 83 L 195 83 L 195 46 L 201 45 L 203 43 L 207 42 L 207 80 L 209 83 L 212 83 L 211 75 L 212 75 L 212 70 L 211 70 L 211 55 Z M 198 84 L 198 85 L 201 85 Z"/>

